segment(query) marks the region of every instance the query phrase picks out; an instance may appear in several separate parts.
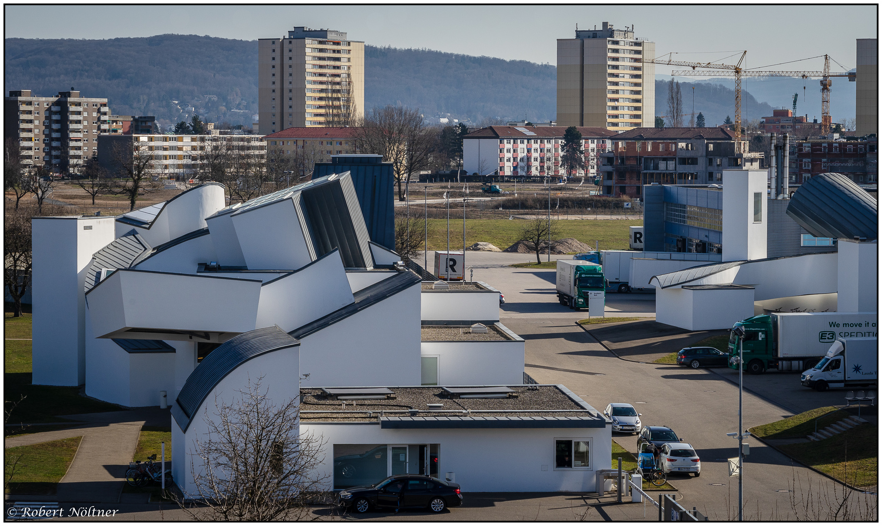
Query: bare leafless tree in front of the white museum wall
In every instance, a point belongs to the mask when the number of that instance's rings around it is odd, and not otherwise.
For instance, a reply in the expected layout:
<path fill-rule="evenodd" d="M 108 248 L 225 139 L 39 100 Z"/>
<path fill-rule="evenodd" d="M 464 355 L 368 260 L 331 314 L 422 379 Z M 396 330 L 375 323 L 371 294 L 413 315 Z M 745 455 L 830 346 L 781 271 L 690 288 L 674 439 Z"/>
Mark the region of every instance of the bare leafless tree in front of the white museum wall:
<path fill-rule="evenodd" d="M 197 507 L 192 518 L 207 521 L 296 521 L 310 502 L 325 494 L 327 477 L 317 475 L 325 441 L 300 433 L 297 399 L 273 401 L 263 378 L 237 391 L 229 403 L 215 399 L 206 409 L 208 432 L 195 441 L 191 465 Z"/>

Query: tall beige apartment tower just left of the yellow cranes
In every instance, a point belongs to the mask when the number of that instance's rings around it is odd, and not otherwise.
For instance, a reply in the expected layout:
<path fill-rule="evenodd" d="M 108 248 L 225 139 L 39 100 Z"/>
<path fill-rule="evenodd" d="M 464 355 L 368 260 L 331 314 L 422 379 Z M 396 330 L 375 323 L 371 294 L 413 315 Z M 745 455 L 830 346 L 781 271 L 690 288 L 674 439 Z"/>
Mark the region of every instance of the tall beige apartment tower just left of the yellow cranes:
<path fill-rule="evenodd" d="M 557 125 L 612 131 L 655 125 L 655 43 L 634 37 L 634 26 L 576 29 L 557 39 Z"/>

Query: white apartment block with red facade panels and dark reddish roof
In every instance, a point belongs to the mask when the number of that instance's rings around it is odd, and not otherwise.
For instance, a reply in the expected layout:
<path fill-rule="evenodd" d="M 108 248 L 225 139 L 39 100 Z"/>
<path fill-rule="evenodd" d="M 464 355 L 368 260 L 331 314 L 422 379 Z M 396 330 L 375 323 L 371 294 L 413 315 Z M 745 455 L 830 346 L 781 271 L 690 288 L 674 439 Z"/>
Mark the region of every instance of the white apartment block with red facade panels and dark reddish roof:
<path fill-rule="evenodd" d="M 560 166 L 564 126 L 489 126 L 462 138 L 463 169 L 468 174 L 544 176 L 564 175 Z M 587 170 L 576 176 L 596 177 L 598 159 L 609 148 L 615 131 L 606 128 L 579 128 L 585 149 Z"/>

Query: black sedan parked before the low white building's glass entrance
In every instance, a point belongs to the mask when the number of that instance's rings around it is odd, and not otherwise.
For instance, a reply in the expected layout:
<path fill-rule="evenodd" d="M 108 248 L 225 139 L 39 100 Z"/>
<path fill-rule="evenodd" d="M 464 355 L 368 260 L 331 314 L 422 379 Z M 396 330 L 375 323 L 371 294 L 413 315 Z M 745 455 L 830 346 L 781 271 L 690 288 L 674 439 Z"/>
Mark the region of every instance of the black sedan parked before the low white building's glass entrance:
<path fill-rule="evenodd" d="M 370 508 L 429 508 L 440 513 L 445 507 L 460 506 L 460 485 L 425 475 L 392 475 L 372 485 L 359 485 L 340 492 L 340 506 L 357 513 Z"/>

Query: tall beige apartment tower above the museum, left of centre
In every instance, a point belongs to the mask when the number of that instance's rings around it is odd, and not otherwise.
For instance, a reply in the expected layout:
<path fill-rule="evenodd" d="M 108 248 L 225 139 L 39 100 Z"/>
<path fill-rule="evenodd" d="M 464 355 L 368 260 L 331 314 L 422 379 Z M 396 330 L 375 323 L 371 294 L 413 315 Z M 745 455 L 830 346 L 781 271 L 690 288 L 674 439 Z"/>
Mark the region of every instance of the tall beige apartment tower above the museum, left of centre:
<path fill-rule="evenodd" d="M 346 33 L 295 26 L 287 37 L 258 39 L 258 77 L 260 135 L 364 113 L 364 42 Z"/>

